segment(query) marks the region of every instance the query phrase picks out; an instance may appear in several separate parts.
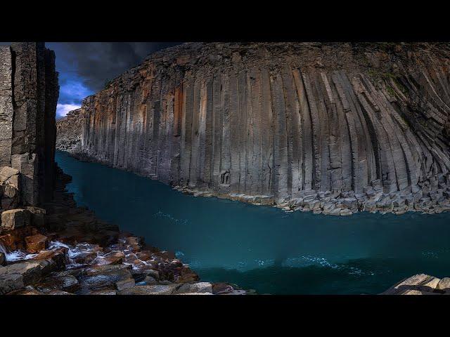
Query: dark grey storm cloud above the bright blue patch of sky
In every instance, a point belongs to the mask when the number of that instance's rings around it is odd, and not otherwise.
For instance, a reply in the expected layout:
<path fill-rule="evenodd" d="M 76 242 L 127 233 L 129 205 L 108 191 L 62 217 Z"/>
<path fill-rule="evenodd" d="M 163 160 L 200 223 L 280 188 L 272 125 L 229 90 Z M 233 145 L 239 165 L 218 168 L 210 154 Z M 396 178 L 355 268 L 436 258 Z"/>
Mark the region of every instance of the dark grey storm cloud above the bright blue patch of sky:
<path fill-rule="evenodd" d="M 88 42 L 63 43 L 68 61 L 75 64 L 84 85 L 93 91 L 103 88 L 106 81 L 114 79 L 131 67 L 139 65 L 154 51 L 174 42 Z"/>

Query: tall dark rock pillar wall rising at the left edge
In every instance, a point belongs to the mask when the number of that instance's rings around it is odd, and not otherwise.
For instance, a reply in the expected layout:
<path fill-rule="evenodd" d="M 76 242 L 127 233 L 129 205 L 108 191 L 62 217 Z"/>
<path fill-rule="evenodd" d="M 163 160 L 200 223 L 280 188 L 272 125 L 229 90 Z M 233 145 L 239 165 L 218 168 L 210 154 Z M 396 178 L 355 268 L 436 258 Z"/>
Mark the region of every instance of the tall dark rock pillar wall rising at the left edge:
<path fill-rule="evenodd" d="M 44 43 L 0 46 L 0 209 L 51 199 L 58 93 L 55 53 Z"/>

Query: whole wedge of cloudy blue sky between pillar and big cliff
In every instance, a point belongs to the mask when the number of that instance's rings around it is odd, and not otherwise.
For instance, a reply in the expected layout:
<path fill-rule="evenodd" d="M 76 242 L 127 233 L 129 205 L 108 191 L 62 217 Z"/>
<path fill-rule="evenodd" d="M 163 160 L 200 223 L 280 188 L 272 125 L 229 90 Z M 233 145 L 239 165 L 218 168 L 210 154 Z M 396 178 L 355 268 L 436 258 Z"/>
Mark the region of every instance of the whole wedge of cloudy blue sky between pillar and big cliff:
<path fill-rule="evenodd" d="M 3 42 L 0 44 L 9 44 Z M 105 82 L 146 56 L 176 42 L 46 42 L 56 53 L 60 93 L 56 118 L 81 107 L 83 98 L 100 91 Z"/>

